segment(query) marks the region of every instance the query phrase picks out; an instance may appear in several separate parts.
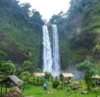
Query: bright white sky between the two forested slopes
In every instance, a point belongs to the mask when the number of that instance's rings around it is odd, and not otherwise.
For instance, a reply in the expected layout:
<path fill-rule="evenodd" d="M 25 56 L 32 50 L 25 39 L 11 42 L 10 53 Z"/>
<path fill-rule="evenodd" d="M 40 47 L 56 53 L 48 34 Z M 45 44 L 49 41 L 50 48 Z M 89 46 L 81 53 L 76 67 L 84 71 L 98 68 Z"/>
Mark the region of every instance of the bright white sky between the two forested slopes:
<path fill-rule="evenodd" d="M 36 9 L 43 19 L 49 20 L 52 15 L 60 11 L 67 12 L 71 0 L 19 0 L 20 3 L 30 3 L 32 9 Z"/>

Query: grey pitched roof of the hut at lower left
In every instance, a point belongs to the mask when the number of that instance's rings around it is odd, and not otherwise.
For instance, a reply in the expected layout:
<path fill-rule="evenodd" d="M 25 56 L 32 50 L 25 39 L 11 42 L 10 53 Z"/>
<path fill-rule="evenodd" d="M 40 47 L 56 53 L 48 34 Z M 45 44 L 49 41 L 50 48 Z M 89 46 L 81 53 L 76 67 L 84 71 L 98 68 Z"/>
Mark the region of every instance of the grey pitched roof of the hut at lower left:
<path fill-rule="evenodd" d="M 6 82 L 9 84 L 13 82 L 15 85 L 20 85 L 21 83 L 23 83 L 23 81 L 15 75 L 8 76 L 6 79 L 2 80 L 0 83 L 6 83 Z"/>

